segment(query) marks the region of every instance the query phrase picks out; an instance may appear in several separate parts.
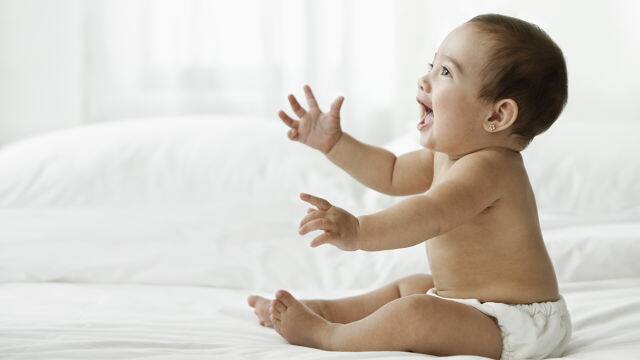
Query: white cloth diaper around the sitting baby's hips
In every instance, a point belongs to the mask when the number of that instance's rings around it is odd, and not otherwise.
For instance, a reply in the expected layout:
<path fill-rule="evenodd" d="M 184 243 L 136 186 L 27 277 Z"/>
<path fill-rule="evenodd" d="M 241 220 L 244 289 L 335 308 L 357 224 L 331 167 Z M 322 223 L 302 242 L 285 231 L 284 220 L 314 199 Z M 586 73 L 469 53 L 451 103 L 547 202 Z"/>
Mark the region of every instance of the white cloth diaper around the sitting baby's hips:
<path fill-rule="evenodd" d="M 560 357 L 571 338 L 571 317 L 562 295 L 558 301 L 532 304 L 481 303 L 477 299 L 453 299 L 427 295 L 472 306 L 498 320 L 502 332 L 501 359 Z"/>

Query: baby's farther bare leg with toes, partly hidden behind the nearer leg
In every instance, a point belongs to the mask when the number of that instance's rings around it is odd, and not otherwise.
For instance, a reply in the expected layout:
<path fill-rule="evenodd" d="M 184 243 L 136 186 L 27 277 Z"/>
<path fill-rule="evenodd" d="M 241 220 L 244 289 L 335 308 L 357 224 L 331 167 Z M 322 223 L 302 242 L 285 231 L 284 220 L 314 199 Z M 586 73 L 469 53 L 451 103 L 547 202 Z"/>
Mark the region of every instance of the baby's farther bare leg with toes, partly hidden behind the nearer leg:
<path fill-rule="evenodd" d="M 306 299 L 300 301 L 311 311 L 330 322 L 348 324 L 367 317 L 390 301 L 407 295 L 424 294 L 432 287 L 433 278 L 431 275 L 414 274 L 362 295 L 331 300 Z M 255 314 L 258 316 L 260 324 L 272 327 L 273 324 L 269 318 L 269 307 L 272 300 L 251 295 L 247 301 L 251 307 L 255 308 Z"/>

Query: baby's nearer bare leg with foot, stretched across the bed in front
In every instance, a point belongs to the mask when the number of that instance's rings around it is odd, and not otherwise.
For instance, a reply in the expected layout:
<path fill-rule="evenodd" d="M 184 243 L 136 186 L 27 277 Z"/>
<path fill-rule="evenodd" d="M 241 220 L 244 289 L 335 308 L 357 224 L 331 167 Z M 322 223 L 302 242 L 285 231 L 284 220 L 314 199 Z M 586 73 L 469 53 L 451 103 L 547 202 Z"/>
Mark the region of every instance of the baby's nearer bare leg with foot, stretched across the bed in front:
<path fill-rule="evenodd" d="M 364 319 L 331 323 L 279 290 L 272 307 L 275 330 L 293 345 L 332 351 L 410 351 L 500 358 L 500 329 L 471 306 L 414 294 L 393 300 Z"/>

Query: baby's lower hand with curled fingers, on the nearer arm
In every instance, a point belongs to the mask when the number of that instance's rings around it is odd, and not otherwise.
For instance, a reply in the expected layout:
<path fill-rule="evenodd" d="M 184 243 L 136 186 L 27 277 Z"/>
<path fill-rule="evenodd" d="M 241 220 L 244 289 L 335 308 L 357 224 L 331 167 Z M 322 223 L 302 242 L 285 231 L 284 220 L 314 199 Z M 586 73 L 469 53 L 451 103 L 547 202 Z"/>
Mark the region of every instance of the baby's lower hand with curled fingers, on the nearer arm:
<path fill-rule="evenodd" d="M 307 215 L 300 221 L 298 232 L 304 235 L 314 230 L 324 230 L 324 234 L 311 241 L 311 247 L 331 244 L 341 250 L 358 250 L 358 218 L 347 211 L 332 206 L 327 200 L 313 195 L 301 193 L 300 199 L 317 207 L 307 210 Z"/>

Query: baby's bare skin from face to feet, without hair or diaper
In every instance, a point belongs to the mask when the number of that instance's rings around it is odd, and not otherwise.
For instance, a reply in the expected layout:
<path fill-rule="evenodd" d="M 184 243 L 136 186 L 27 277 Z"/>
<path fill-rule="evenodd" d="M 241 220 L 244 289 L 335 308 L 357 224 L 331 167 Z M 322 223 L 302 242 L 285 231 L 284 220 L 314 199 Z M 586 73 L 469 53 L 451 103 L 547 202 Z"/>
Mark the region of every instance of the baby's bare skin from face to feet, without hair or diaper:
<path fill-rule="evenodd" d="M 249 297 L 259 321 L 272 324 L 289 343 L 327 350 L 499 358 L 502 338 L 495 319 L 425 292 L 436 288 L 445 298 L 507 304 L 559 299 L 520 155 L 526 142 L 511 132 L 517 103 L 478 98 L 485 45 L 471 24 L 445 38 L 433 70 L 418 81 L 423 149 L 399 157 L 342 132 L 343 98 L 324 113 L 308 86 L 308 111 L 289 97 L 300 119 L 279 113 L 291 128 L 289 139 L 322 151 L 365 186 L 389 195 L 415 195 L 356 217 L 302 194 L 315 208 L 300 222 L 300 234 L 320 230 L 312 247 L 331 244 L 345 251 L 425 242 L 432 275 L 399 279 L 344 299 L 300 301 L 283 290 L 273 301 Z"/>

